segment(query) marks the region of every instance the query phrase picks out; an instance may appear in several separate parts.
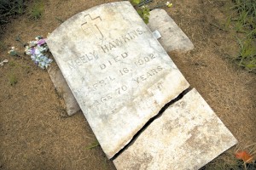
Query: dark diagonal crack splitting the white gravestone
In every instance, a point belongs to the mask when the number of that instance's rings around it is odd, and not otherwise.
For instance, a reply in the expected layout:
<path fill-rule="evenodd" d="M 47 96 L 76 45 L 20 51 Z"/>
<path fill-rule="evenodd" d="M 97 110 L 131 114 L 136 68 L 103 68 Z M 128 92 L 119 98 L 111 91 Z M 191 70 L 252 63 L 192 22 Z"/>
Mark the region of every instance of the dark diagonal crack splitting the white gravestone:
<path fill-rule="evenodd" d="M 141 133 L 143 133 L 143 131 L 144 131 L 152 122 L 154 122 L 154 120 L 156 120 L 156 119 L 158 119 L 160 116 L 162 116 L 162 114 L 166 111 L 166 109 L 167 109 L 170 105 L 172 105 L 172 104 L 176 103 L 178 100 L 182 99 L 183 96 L 184 96 L 185 94 L 188 94 L 190 90 L 192 90 L 191 87 L 189 87 L 189 88 L 183 90 L 183 92 L 182 92 L 181 94 L 178 94 L 178 96 L 177 96 L 175 99 L 172 99 L 171 101 L 169 101 L 168 103 L 166 103 L 166 105 L 164 105 L 164 106 L 160 109 L 160 111 L 159 111 L 155 116 L 151 117 L 151 118 L 148 120 L 148 122 L 132 137 L 131 141 L 130 141 L 128 144 L 125 144 L 124 148 L 122 148 L 121 150 L 119 150 L 119 152 L 117 152 L 110 160 L 113 161 L 113 160 L 114 160 L 116 157 L 118 157 L 124 150 L 126 150 L 127 148 L 129 148 L 129 146 L 134 143 L 134 141 L 139 137 L 139 135 L 140 135 Z"/>

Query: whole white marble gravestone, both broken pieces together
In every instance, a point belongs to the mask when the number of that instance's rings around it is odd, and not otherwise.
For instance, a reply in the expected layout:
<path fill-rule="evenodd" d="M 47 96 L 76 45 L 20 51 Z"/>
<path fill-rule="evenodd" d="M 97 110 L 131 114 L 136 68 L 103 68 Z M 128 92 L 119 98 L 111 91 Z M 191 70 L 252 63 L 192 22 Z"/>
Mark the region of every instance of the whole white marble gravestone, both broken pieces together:
<path fill-rule="evenodd" d="M 177 99 L 189 83 L 131 3 L 76 14 L 47 43 L 117 169 L 197 169 L 236 144 L 195 89 Z"/>

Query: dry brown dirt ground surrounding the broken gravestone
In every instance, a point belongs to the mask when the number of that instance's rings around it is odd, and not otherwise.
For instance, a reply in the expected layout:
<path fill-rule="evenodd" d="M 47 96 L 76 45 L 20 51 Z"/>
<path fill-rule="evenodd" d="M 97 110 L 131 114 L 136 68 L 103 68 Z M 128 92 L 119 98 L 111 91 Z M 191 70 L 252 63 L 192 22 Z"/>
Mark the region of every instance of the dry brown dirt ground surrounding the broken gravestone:
<path fill-rule="evenodd" d="M 24 14 L 5 26 L 0 60 L 0 169 L 115 169 L 100 147 L 85 149 L 96 137 L 80 111 L 65 115 L 63 99 L 56 94 L 47 71 L 29 57 L 7 54 L 11 46 L 23 50 L 15 37 L 25 42 L 46 37 L 60 22 L 98 4 L 113 1 L 47 0 L 40 20 Z M 160 1 L 157 1 L 160 2 Z M 193 88 L 240 144 L 256 142 L 256 75 L 235 65 L 229 56 L 237 53 L 233 31 L 222 31 L 228 16 L 227 0 L 173 0 L 165 8 L 195 44 L 195 50 L 170 56 Z M 10 78 L 17 83 L 10 85 Z M 232 151 L 232 149 L 231 149 Z"/>

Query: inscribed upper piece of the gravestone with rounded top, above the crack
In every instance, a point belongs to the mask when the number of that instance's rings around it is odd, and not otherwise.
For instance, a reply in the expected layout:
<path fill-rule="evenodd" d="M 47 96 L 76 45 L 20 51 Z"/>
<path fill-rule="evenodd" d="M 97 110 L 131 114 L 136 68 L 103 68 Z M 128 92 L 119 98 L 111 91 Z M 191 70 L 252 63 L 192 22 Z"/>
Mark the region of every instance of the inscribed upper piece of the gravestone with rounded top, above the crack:
<path fill-rule="evenodd" d="M 189 88 L 127 1 L 74 15 L 47 43 L 108 158 Z"/>

